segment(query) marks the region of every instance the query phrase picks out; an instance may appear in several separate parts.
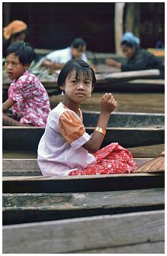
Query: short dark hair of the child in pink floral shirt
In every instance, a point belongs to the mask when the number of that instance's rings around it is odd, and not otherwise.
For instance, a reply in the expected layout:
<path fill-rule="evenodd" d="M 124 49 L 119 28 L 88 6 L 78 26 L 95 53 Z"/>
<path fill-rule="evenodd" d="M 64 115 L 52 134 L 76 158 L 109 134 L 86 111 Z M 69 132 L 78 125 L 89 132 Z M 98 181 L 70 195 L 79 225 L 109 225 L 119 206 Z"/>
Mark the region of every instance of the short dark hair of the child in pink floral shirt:
<path fill-rule="evenodd" d="M 31 44 L 24 42 L 11 44 L 6 50 L 5 58 L 11 53 L 18 56 L 18 60 L 22 65 L 31 64 L 35 57 L 34 49 L 31 47 Z"/>

